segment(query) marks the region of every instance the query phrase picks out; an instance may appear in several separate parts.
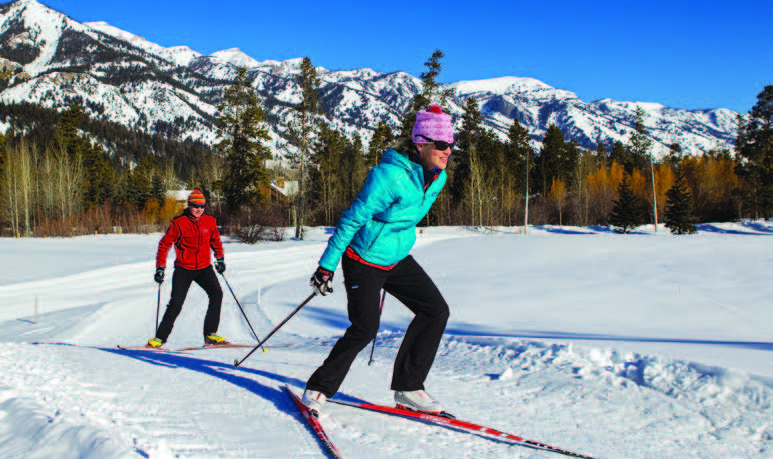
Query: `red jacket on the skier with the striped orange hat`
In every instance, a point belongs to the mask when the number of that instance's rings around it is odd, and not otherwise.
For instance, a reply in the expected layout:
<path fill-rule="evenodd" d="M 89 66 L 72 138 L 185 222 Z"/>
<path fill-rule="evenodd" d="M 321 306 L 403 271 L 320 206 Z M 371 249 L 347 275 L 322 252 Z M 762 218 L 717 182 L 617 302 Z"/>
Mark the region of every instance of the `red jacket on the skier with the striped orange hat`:
<path fill-rule="evenodd" d="M 215 258 L 223 258 L 223 244 L 214 217 L 202 215 L 198 221 L 185 209 L 182 215 L 172 220 L 166 234 L 158 243 L 156 268 L 166 267 L 166 256 L 174 244 L 175 268 L 203 269 L 212 264 L 210 247 Z"/>

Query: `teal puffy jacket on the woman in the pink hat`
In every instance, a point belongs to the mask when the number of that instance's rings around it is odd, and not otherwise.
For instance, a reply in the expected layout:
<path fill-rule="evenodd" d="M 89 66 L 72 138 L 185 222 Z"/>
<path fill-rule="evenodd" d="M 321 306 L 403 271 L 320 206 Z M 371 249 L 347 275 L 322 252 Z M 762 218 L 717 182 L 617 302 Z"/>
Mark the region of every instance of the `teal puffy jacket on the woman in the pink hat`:
<path fill-rule="evenodd" d="M 346 247 L 368 263 L 391 266 L 416 242 L 416 225 L 427 215 L 446 183 L 446 171 L 424 190 L 422 166 L 395 150 L 368 173 L 362 190 L 341 214 L 319 265 L 335 271 Z"/>

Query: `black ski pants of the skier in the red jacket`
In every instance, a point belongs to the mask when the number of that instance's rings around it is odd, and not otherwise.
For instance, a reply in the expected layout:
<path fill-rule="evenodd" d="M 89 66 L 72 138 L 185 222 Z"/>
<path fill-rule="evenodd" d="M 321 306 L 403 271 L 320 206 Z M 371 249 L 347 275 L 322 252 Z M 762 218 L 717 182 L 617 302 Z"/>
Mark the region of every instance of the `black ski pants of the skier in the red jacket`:
<path fill-rule="evenodd" d="M 212 269 L 212 266 L 196 270 L 177 267 L 172 275 L 172 298 L 166 305 L 164 318 L 156 332 L 156 338 L 161 341 L 166 342 L 169 334 L 172 333 L 174 321 L 177 320 L 177 316 L 182 311 L 191 282 L 199 284 L 199 287 L 204 289 L 209 296 L 209 307 L 207 315 L 204 317 L 204 336 L 217 332 L 217 327 L 220 325 L 220 307 L 223 304 L 223 289 L 220 288 L 215 270 Z"/>

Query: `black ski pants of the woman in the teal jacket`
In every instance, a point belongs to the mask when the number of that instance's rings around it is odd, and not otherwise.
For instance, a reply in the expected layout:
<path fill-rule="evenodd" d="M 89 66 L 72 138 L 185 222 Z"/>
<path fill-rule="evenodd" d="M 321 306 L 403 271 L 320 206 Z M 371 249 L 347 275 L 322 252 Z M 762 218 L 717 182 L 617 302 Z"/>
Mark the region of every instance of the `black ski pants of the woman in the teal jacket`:
<path fill-rule="evenodd" d="M 311 375 L 306 388 L 332 397 L 349 368 L 376 337 L 380 321 L 381 289 L 400 300 L 415 317 L 408 325 L 392 373 L 392 390 L 424 389 L 424 380 L 435 360 L 449 312 L 443 295 L 412 256 L 389 271 L 344 256 L 341 261 L 348 298 L 349 321 L 325 362 Z"/>

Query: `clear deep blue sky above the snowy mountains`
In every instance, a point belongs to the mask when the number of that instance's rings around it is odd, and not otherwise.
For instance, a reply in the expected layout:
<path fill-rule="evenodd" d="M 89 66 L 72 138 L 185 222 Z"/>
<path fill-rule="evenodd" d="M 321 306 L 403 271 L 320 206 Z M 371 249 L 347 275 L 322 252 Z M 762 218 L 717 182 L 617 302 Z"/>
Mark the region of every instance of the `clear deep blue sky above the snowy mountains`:
<path fill-rule="evenodd" d="M 772 0 L 40 1 L 162 46 L 331 70 L 418 76 L 440 49 L 443 83 L 532 77 L 587 102 L 746 113 L 773 85 Z"/>

